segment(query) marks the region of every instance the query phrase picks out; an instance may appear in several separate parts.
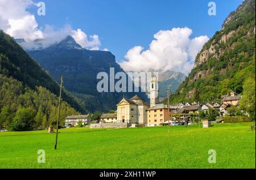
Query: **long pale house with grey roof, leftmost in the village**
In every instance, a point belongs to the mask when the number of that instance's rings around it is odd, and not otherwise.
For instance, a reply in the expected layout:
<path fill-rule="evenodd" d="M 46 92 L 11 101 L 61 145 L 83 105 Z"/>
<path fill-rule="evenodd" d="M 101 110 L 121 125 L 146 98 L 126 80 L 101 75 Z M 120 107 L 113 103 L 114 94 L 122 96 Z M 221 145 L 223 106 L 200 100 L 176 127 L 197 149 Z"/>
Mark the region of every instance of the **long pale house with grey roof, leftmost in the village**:
<path fill-rule="evenodd" d="M 86 125 L 89 124 L 90 121 L 92 120 L 92 118 L 90 117 L 90 115 L 76 115 L 76 116 L 67 116 L 67 118 L 65 118 L 65 126 L 68 125 L 73 125 L 76 126 L 78 125 L 79 122 L 82 122 L 82 125 Z"/>

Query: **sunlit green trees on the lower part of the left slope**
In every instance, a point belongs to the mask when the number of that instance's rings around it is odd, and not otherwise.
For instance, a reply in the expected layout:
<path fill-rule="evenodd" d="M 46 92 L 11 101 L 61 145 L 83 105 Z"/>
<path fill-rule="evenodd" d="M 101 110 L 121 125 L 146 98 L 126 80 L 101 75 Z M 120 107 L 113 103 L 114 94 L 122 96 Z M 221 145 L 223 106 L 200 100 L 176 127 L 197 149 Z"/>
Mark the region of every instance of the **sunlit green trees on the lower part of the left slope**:
<path fill-rule="evenodd" d="M 30 89 L 12 77 L 0 74 L 0 128 L 9 131 L 31 131 L 56 125 L 57 96 L 42 86 Z M 77 115 L 67 102 L 61 103 L 60 126 L 65 117 Z"/>

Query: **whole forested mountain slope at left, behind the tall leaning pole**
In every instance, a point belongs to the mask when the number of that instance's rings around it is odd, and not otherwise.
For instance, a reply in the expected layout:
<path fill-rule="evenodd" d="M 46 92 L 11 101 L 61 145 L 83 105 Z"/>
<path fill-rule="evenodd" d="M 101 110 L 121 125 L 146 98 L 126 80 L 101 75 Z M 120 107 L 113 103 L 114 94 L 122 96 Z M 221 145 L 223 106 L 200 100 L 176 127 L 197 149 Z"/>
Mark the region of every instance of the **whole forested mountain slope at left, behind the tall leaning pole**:
<path fill-rule="evenodd" d="M 0 31 L 0 128 L 26 131 L 56 123 L 59 85 L 16 44 Z M 65 91 L 61 123 L 82 108 Z"/>

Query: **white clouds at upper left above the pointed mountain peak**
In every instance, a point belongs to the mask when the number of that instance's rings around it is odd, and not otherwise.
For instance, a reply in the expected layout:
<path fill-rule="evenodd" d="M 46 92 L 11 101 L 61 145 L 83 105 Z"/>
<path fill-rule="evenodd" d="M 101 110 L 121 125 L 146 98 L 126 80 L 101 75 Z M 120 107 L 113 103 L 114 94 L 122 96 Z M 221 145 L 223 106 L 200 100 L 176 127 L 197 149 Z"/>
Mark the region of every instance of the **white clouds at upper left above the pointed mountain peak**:
<path fill-rule="evenodd" d="M 17 39 L 24 39 L 26 49 L 46 48 L 67 35 L 72 35 L 83 48 L 98 50 L 101 43 L 98 35 L 87 36 L 81 29 L 73 30 L 70 25 L 55 29 L 46 25 L 39 27 L 35 15 L 27 9 L 36 7 L 32 0 L 0 0 L 0 29 Z M 35 43 L 35 39 L 44 39 Z"/>

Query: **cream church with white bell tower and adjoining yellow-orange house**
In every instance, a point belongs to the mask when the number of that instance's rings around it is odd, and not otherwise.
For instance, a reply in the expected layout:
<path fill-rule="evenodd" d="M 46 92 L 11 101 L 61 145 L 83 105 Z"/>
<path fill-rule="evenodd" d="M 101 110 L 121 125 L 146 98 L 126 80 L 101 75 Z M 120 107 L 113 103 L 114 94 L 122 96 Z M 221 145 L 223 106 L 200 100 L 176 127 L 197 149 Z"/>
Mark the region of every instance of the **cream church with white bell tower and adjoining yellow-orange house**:
<path fill-rule="evenodd" d="M 165 104 L 159 104 L 158 93 L 158 79 L 156 76 L 152 76 L 150 104 L 138 95 L 130 99 L 123 97 L 117 104 L 117 111 L 115 112 L 117 118 L 111 119 L 111 122 L 145 126 L 163 125 L 164 122 L 172 118 L 172 110 Z M 105 119 L 105 122 L 109 122 L 109 119 Z"/>

